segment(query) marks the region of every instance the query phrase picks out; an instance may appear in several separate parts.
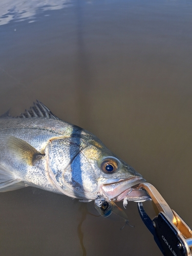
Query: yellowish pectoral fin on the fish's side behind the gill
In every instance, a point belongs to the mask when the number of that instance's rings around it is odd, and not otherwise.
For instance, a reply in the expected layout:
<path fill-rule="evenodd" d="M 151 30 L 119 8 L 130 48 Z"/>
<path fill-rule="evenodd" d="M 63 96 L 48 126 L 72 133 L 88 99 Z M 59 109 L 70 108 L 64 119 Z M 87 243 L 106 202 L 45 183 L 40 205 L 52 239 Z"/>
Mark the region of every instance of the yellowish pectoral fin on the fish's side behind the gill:
<path fill-rule="evenodd" d="M 8 138 L 7 146 L 12 157 L 15 157 L 20 162 L 25 162 L 27 165 L 34 165 L 36 160 L 45 156 L 25 140 L 13 136 Z"/>

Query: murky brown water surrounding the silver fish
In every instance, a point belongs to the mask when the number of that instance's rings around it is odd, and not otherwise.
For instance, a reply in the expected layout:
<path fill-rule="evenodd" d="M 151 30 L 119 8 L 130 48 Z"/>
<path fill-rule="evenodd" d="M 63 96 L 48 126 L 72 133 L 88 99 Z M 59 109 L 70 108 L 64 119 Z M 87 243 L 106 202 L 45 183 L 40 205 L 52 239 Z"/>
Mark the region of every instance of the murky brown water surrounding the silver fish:
<path fill-rule="evenodd" d="M 1 113 L 44 102 L 97 135 L 192 227 L 191 1 L 77 0 L 47 9 L 32 1 L 29 13 L 9 2 L 0 19 Z M 136 203 L 126 209 L 135 228 L 122 230 L 87 214 L 86 204 L 37 188 L 2 193 L 0 205 L 0 255 L 162 255 Z"/>

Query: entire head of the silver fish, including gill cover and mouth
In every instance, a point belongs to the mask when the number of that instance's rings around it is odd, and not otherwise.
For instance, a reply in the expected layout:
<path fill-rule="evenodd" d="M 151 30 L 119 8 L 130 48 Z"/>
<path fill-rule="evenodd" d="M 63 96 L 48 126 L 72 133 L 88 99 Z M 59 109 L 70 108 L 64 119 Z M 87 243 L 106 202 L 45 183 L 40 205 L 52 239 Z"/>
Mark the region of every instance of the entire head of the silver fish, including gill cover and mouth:
<path fill-rule="evenodd" d="M 50 178 L 70 197 L 91 201 L 99 193 L 114 200 L 127 188 L 145 182 L 92 134 L 51 140 L 46 152 Z"/>

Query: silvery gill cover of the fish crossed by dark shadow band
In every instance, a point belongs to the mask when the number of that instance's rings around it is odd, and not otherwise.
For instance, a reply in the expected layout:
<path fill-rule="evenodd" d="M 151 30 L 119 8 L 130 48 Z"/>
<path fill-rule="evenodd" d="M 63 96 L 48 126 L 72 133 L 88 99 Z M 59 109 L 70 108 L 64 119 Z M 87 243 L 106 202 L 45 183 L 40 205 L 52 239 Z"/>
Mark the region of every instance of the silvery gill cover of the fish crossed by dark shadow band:
<path fill-rule="evenodd" d="M 93 197 L 97 184 L 93 167 L 85 155 L 89 146 L 78 136 L 49 141 L 45 151 L 47 174 L 62 194 L 78 199 Z"/>

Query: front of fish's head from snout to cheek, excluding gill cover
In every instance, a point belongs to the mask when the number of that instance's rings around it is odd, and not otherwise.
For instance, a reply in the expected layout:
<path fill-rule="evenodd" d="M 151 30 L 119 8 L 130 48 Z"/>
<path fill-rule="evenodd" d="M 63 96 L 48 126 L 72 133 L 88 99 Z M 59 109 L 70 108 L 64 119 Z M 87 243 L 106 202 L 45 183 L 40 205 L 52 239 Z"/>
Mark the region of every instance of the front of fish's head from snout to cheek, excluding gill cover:
<path fill-rule="evenodd" d="M 114 155 L 97 137 L 89 143 L 91 146 L 85 148 L 83 154 L 92 162 L 97 194 L 113 201 L 129 197 L 128 201 L 138 202 L 149 198 L 144 190 L 137 189 L 138 184 L 145 182 L 142 175 Z"/>

